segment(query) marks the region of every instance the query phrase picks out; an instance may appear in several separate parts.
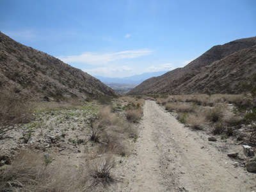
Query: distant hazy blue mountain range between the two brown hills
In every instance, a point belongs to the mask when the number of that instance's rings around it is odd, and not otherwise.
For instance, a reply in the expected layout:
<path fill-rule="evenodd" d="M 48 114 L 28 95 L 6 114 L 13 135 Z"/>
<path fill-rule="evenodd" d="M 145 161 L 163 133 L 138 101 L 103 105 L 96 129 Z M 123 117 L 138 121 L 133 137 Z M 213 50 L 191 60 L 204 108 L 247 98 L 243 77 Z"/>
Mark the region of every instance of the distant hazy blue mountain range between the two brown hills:
<path fill-rule="evenodd" d="M 144 73 L 140 75 L 130 76 L 130 77 L 102 77 L 102 76 L 94 76 L 97 79 L 100 79 L 103 83 L 122 83 L 122 84 L 140 84 L 146 79 L 150 77 L 161 76 L 162 74 L 166 73 L 167 71 L 161 72 L 150 72 Z"/>

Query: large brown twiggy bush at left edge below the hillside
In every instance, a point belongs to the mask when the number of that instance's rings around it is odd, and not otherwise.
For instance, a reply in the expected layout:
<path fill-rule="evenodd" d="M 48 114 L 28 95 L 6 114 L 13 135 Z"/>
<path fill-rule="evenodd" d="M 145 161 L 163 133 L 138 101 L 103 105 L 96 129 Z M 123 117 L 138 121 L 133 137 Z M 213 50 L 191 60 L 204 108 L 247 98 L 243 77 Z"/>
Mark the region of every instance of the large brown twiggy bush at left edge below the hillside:
<path fill-rule="evenodd" d="M 31 120 L 33 102 L 31 97 L 0 90 L 0 137 L 4 132 L 19 128 Z"/>

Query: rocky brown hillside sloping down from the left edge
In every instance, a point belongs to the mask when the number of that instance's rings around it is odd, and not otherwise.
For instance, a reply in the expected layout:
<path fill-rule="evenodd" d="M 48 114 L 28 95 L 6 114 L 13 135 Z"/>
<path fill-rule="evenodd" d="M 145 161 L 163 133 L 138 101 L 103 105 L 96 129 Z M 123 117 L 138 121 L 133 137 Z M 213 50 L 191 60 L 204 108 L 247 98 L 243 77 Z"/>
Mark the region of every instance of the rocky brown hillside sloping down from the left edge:
<path fill-rule="evenodd" d="M 0 88 L 30 92 L 41 100 L 96 99 L 117 95 L 99 79 L 0 33 Z"/>

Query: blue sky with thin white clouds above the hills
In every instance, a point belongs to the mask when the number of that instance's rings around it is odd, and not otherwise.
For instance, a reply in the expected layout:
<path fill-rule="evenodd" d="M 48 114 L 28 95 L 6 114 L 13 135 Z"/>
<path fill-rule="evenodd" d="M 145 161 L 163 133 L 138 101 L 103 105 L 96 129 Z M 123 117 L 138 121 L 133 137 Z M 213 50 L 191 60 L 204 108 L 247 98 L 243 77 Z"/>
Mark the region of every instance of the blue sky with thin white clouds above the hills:
<path fill-rule="evenodd" d="M 0 31 L 97 76 L 184 67 L 256 36 L 255 0 L 1 0 Z"/>

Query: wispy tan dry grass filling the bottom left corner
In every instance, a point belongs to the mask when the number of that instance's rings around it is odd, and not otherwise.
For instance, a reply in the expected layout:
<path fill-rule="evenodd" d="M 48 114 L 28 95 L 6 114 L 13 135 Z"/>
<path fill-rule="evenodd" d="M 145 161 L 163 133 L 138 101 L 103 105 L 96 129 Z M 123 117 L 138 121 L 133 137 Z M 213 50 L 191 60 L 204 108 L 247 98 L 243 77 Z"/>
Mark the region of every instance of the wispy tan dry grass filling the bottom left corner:
<path fill-rule="evenodd" d="M 33 150 L 22 150 L 0 179 L 0 191 L 65 192 L 79 186 L 76 168 L 63 161 L 46 165 L 44 154 Z"/>

